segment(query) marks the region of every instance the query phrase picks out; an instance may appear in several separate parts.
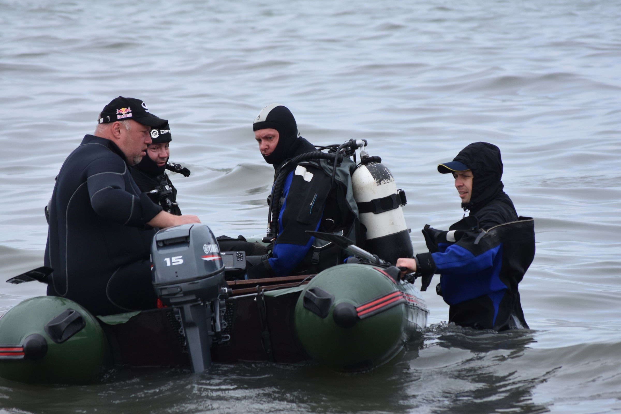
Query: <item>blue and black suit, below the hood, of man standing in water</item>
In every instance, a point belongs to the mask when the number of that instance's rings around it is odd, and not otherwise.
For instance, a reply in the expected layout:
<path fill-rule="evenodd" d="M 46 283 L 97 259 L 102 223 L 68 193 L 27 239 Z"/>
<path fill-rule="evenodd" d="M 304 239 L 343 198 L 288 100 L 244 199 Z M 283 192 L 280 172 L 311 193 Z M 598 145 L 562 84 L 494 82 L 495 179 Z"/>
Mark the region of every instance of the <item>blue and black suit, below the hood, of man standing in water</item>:
<path fill-rule="evenodd" d="M 469 216 L 448 232 L 425 226 L 430 253 L 417 254 L 423 289 L 433 273 L 440 274 L 438 295 L 450 305 L 449 322 L 502 331 L 528 328 L 518 284 L 535 257 L 531 217 L 489 228 L 478 228 Z"/>

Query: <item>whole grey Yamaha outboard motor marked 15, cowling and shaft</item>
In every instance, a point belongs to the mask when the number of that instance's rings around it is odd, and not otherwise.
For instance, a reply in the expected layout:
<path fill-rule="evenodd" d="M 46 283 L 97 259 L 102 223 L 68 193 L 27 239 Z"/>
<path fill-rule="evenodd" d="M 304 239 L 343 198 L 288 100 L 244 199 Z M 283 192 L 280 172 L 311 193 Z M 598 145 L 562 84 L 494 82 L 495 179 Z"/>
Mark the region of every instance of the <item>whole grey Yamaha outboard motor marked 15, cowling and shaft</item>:
<path fill-rule="evenodd" d="M 151 248 L 153 287 L 162 304 L 179 309 L 193 372 L 211 366 L 211 343 L 220 331 L 224 264 L 214 233 L 204 224 L 160 230 Z"/>

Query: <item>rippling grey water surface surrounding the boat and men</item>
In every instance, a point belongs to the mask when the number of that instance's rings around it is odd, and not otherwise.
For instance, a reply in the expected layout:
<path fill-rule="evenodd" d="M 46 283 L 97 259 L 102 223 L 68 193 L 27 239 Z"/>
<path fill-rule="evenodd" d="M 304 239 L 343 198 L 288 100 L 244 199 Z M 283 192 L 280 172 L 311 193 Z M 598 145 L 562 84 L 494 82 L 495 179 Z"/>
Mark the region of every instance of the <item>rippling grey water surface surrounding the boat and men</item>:
<path fill-rule="evenodd" d="M 535 218 L 520 284 L 532 330 L 446 325 L 372 372 L 313 364 L 111 372 L 101 384 L 0 380 L 0 413 L 605 413 L 621 410 L 621 2 L 582 0 L 0 0 L 0 310 L 45 294 L 43 206 L 113 97 L 170 119 L 184 213 L 265 232 L 273 169 L 252 119 L 288 106 L 315 144 L 366 138 L 419 229 L 461 218 L 436 165 L 498 145 Z M 417 285 L 419 282 L 417 282 Z M 435 282 L 434 282 L 435 284 Z"/>

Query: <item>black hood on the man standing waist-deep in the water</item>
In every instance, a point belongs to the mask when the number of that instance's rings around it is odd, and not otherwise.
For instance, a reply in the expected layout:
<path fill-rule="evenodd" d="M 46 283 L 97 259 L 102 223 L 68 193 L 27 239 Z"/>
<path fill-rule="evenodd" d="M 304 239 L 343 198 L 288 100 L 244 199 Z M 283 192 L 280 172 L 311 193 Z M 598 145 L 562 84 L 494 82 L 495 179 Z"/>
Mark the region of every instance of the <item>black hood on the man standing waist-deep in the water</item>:
<path fill-rule="evenodd" d="M 463 209 L 474 213 L 491 200 L 507 196 L 502 189 L 501 150 L 487 142 L 474 142 L 466 146 L 453 158 L 453 161 L 465 164 L 473 174 L 472 196 L 468 204 L 461 204 Z"/>

